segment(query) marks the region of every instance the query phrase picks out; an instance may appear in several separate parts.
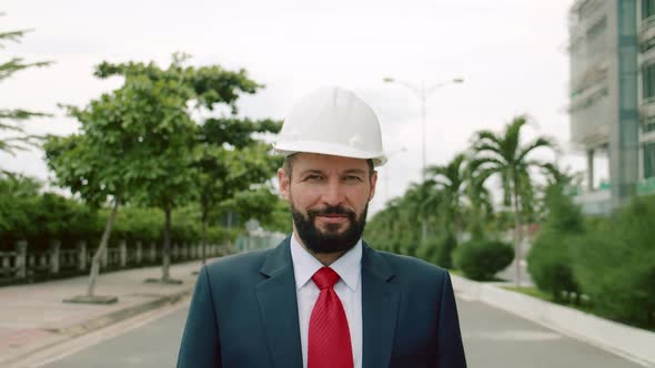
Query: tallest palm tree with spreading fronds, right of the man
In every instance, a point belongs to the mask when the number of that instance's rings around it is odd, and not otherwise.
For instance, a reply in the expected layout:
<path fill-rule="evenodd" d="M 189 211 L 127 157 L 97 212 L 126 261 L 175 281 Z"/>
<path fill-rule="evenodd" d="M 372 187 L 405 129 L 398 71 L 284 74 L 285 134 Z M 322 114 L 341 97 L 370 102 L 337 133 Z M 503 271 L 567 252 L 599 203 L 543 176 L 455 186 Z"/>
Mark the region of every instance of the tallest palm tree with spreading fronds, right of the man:
<path fill-rule="evenodd" d="M 528 156 L 540 147 L 554 147 L 554 143 L 543 136 L 522 145 L 521 129 L 527 123 L 525 115 L 515 116 L 502 134 L 480 131 L 473 141 L 475 160 L 472 165 L 482 175 L 500 176 L 503 185 L 503 202 L 514 212 L 514 251 L 516 285 L 521 285 L 521 222 L 522 214 L 532 205 L 531 167 L 543 167 L 544 163 Z"/>

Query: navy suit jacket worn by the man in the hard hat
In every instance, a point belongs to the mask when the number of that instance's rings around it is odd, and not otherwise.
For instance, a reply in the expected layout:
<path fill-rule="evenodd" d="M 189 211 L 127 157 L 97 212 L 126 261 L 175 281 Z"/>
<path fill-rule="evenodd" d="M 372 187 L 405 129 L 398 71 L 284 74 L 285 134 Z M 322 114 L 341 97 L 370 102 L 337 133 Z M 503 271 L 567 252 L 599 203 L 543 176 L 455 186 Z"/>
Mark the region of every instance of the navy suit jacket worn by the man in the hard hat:
<path fill-rule="evenodd" d="M 179 368 L 302 368 L 290 238 L 202 267 Z M 451 279 L 426 262 L 362 254 L 363 368 L 464 368 Z"/>

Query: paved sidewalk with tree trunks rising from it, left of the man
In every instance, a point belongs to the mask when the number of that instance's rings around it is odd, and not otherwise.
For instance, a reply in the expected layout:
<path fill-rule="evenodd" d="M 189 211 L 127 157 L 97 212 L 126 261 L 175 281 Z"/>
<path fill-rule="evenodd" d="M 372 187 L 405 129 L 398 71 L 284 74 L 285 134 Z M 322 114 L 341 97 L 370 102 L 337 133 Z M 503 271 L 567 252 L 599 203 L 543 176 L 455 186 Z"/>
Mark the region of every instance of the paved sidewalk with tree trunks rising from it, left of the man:
<path fill-rule="evenodd" d="M 95 294 L 117 296 L 113 305 L 62 303 L 87 293 L 88 276 L 0 288 L 0 367 L 191 295 L 192 273 L 200 266 L 200 260 L 171 265 L 171 278 L 180 285 L 143 283 L 161 277 L 161 266 L 101 274 Z"/>

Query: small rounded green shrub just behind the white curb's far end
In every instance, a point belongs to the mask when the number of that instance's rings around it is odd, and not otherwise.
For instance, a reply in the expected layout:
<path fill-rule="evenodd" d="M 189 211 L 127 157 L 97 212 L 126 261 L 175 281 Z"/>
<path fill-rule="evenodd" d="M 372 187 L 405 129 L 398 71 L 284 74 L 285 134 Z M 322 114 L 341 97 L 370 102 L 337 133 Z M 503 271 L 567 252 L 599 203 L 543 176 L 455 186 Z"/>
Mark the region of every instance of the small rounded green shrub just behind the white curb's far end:
<path fill-rule="evenodd" d="M 474 239 L 462 243 L 454 254 L 455 266 L 468 278 L 488 280 L 507 267 L 514 258 L 511 245 L 490 239 Z"/>

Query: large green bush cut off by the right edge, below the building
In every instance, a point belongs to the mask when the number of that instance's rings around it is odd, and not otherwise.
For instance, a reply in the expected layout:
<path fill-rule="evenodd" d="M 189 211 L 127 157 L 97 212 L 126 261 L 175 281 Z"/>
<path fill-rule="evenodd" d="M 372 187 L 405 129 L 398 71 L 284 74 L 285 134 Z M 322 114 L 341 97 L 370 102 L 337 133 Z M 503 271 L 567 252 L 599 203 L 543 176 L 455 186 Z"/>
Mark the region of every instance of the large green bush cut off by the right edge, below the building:
<path fill-rule="evenodd" d="M 655 198 L 637 198 L 575 238 L 573 270 L 609 318 L 655 327 Z"/>

